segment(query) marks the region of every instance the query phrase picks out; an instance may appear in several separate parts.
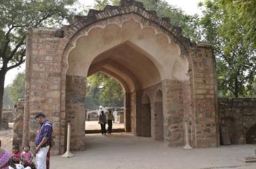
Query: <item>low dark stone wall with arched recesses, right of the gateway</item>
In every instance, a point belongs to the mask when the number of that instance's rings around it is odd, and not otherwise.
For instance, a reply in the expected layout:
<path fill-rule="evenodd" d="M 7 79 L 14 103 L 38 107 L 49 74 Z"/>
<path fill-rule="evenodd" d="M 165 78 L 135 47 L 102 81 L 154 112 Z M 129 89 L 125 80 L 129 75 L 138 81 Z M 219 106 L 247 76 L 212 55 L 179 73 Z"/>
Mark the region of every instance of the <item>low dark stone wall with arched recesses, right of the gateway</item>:
<path fill-rule="evenodd" d="M 222 145 L 256 143 L 256 98 L 219 98 Z"/>

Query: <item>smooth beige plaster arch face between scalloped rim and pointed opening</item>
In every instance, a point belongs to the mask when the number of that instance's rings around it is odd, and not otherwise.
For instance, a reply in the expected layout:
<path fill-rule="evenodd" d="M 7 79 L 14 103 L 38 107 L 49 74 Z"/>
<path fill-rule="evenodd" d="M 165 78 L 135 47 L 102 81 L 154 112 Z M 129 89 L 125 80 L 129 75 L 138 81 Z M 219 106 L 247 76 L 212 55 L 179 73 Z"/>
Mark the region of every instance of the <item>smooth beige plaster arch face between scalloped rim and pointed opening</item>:
<path fill-rule="evenodd" d="M 67 74 L 86 77 L 88 67 L 98 54 L 120 43 L 128 43 L 132 48 L 141 50 L 156 65 L 161 79 L 171 79 L 170 70 L 175 60 L 182 61 L 179 58 L 179 45 L 170 42 L 164 33 L 156 34 L 156 31 L 149 27 L 142 29 L 139 22 L 133 18 L 122 24 L 123 27 L 120 26 L 108 24 L 104 29 L 102 26 L 95 26 L 86 35 L 79 36 L 68 58 L 69 67 L 73 69 L 69 69 Z"/>

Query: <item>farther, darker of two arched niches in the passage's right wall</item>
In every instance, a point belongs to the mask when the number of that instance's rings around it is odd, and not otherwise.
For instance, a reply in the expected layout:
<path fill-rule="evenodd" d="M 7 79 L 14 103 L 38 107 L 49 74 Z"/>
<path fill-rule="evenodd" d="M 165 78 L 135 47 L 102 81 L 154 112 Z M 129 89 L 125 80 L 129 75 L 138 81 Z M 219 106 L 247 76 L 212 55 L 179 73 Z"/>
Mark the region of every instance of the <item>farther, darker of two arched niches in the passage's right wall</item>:
<path fill-rule="evenodd" d="M 141 136 L 151 136 L 151 104 L 149 95 L 143 94 L 141 107 Z"/>

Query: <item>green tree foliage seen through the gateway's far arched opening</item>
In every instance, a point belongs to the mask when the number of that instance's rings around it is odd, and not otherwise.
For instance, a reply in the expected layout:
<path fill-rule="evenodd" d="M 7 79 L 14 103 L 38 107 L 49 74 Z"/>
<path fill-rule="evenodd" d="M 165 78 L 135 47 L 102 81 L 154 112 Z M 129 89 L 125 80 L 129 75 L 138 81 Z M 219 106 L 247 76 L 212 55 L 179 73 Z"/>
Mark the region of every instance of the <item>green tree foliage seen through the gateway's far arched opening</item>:
<path fill-rule="evenodd" d="M 124 91 L 115 79 L 103 73 L 95 73 L 87 78 L 86 108 L 123 107 Z"/>

